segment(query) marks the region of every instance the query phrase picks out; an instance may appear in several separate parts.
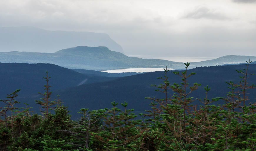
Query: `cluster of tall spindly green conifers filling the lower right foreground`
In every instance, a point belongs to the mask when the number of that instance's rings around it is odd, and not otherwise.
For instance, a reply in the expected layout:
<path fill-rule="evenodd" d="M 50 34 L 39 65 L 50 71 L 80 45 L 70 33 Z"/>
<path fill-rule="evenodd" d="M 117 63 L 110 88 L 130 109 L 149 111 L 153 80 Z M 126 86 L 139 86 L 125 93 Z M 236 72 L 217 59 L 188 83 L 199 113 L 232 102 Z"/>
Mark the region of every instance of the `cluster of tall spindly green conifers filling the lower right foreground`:
<path fill-rule="evenodd" d="M 240 84 L 227 82 L 230 92 L 226 98 L 218 97 L 209 99 L 208 93 L 211 88 L 207 85 L 205 98 L 197 99 L 202 105 L 199 107 L 191 106 L 195 101 L 192 96 L 193 91 L 197 90 L 201 84 L 194 83 L 189 86 L 188 78 L 195 73 L 188 73 L 189 63 L 184 63 L 186 70 L 183 72 L 173 72 L 178 75 L 182 82 L 180 84 L 169 84 L 165 76 L 164 84 L 156 86 L 165 94 L 164 99 L 149 98 L 158 104 L 151 102 L 152 110 L 144 116 L 150 117 L 147 129 L 159 130 L 158 137 L 154 135 L 142 135 L 144 148 L 149 149 L 154 142 L 158 150 L 253 150 L 255 148 L 255 105 L 240 105 L 240 102 L 247 101 L 245 91 L 252 89 L 254 85 L 248 85 L 247 70 L 251 62 L 247 62 L 247 69 L 242 73 L 243 77 Z M 164 70 L 166 75 L 167 70 Z M 253 75 L 253 74 L 250 74 Z M 159 78 L 162 79 L 162 78 Z M 169 88 L 174 94 L 167 95 Z M 241 89 L 237 93 L 236 89 Z M 240 93 L 241 92 L 241 93 Z M 243 94 L 240 97 L 240 94 Z M 211 105 L 215 101 L 224 99 L 227 101 L 223 106 Z M 238 112 L 236 108 L 241 108 Z M 225 109 L 226 108 L 226 109 Z M 150 133 L 149 133 L 150 134 Z M 160 139 L 160 140 L 159 140 Z"/>

